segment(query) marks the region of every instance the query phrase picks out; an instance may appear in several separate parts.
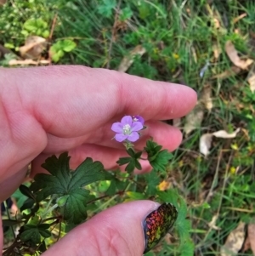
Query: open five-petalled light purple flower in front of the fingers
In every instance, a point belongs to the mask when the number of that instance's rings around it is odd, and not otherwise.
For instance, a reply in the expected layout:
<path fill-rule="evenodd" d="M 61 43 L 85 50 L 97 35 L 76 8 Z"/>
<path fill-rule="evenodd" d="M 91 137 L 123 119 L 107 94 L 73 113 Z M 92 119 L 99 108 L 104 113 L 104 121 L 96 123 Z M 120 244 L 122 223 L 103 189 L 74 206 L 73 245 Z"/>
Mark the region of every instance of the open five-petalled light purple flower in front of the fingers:
<path fill-rule="evenodd" d="M 131 142 L 138 140 L 138 131 L 142 128 L 144 128 L 143 123 L 139 121 L 133 121 L 131 116 L 122 117 L 121 122 L 114 122 L 111 126 L 111 130 L 116 132 L 115 139 L 118 142 L 122 142 L 125 139 Z"/>

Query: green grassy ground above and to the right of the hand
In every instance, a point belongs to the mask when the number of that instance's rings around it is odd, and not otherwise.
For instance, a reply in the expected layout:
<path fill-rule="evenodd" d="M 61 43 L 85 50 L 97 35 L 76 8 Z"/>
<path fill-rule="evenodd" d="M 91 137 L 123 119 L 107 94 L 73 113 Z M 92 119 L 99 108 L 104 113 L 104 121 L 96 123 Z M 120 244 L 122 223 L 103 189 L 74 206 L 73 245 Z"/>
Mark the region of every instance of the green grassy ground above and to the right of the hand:
<path fill-rule="evenodd" d="M 255 96 L 246 82 L 253 66 L 225 79 L 213 78 L 233 65 L 224 50 L 227 40 L 254 60 L 255 3 L 58 0 L 53 4 L 34 0 L 27 1 L 27 7 L 22 2 L 0 7 L 0 43 L 11 46 L 14 52 L 26 39 L 20 29 L 27 19 L 41 18 L 50 31 L 56 13 L 51 43 L 70 39 L 77 44 L 57 64 L 117 70 L 122 58 L 142 44 L 146 53 L 134 59 L 127 73 L 188 84 L 198 92 L 199 99 L 205 86 L 210 85 L 212 111 L 203 108 L 201 124 L 173 152 L 169 178 L 189 206 L 195 255 L 217 255 L 229 232 L 241 220 L 250 223 L 255 213 Z M 241 14 L 246 17 L 235 21 Z M 11 29 L 6 27 L 7 20 L 13 24 Z M 218 58 L 215 48 L 221 51 Z M 42 56 L 48 58 L 47 53 Z M 207 61 L 211 65 L 200 77 Z M 185 122 L 182 118 L 181 128 Z M 201 155 L 201 134 L 221 129 L 232 132 L 235 128 L 241 128 L 235 139 L 215 138 L 209 156 Z M 214 216 L 219 229 L 210 228 Z M 251 255 L 251 251 L 238 255 Z"/>

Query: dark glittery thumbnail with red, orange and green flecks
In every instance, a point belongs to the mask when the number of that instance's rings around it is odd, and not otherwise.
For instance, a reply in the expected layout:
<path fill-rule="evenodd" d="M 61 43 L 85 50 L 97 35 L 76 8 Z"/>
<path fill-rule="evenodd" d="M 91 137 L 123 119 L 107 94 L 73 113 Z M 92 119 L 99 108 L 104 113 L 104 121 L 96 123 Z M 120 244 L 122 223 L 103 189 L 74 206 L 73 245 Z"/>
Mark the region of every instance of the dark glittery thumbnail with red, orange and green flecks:
<path fill-rule="evenodd" d="M 144 219 L 144 253 L 149 252 L 161 241 L 161 238 L 167 235 L 177 219 L 177 215 L 177 210 L 173 204 L 163 203 Z"/>

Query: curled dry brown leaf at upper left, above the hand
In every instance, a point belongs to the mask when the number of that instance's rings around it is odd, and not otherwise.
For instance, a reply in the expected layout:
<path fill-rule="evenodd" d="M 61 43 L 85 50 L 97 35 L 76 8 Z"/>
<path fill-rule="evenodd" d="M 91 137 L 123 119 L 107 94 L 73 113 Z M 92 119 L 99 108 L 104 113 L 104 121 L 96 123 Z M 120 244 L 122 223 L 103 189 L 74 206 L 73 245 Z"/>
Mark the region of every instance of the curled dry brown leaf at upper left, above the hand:
<path fill-rule="evenodd" d="M 29 59 L 37 59 L 45 48 L 46 39 L 31 36 L 26 38 L 24 46 L 20 47 L 20 55 Z"/>

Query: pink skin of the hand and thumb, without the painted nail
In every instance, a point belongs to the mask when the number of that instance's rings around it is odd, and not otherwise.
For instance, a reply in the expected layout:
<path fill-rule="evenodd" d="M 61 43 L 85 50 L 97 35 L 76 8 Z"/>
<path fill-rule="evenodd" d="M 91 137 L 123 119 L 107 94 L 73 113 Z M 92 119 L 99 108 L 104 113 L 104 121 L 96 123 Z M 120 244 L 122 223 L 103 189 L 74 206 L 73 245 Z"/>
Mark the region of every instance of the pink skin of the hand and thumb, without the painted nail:
<path fill-rule="evenodd" d="M 111 124 L 125 115 L 140 115 L 149 127 L 135 143 L 137 149 L 152 136 L 173 151 L 182 134 L 159 120 L 183 117 L 195 102 L 195 92 L 186 86 L 116 71 L 71 65 L 0 69 L 0 202 L 24 181 L 30 162 L 31 176 L 42 173 L 42 162 L 52 154 L 69 151 L 71 168 L 87 156 L 106 169 L 116 168 L 126 153 L 112 139 Z M 150 171 L 148 162 L 142 166 Z M 141 223 L 157 207 L 138 201 L 109 208 L 43 255 L 142 255 Z"/>

